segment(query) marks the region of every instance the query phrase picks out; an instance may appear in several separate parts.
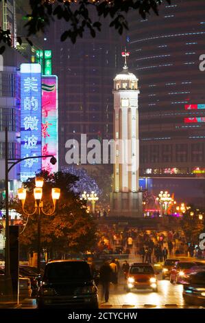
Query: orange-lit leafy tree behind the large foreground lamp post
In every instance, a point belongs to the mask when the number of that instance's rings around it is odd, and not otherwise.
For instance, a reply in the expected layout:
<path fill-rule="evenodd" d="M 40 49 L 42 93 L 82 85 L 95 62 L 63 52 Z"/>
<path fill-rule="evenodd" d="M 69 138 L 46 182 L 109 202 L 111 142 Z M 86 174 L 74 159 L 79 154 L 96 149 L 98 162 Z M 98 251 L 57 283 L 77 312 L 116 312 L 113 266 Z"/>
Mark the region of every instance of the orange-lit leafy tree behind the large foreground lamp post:
<path fill-rule="evenodd" d="M 51 188 L 60 188 L 60 200 L 58 208 L 52 216 L 41 215 L 41 245 L 49 252 L 50 258 L 60 257 L 62 254 L 71 252 L 86 252 L 95 247 L 96 227 L 90 215 L 86 212 L 86 204 L 80 200 L 71 187 L 77 181 L 77 177 L 69 173 L 56 172 L 49 175 L 41 172 L 40 176 L 45 179 L 43 186 L 43 203 L 49 212 L 53 207 L 51 201 Z M 32 212 L 34 210 L 33 188 L 34 179 L 24 183 L 27 188 L 27 201 L 25 208 Z M 12 207 L 21 212 L 20 203 L 16 202 Z M 25 227 L 21 230 L 20 244 L 26 252 L 37 250 L 37 216 L 23 215 Z"/>

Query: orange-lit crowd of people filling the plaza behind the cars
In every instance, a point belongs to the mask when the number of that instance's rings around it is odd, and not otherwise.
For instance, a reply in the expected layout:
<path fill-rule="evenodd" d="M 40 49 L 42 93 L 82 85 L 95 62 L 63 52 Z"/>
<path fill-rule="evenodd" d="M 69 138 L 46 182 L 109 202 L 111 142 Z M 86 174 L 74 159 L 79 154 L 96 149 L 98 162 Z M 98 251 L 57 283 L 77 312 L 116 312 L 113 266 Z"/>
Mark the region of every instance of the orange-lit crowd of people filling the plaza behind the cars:
<path fill-rule="evenodd" d="M 205 258 L 205 254 L 195 243 L 186 241 L 182 231 L 157 232 L 124 228 L 104 227 L 99 239 L 99 254 L 134 254 L 142 261 L 154 263 L 167 259 L 167 256 L 196 256 Z"/>

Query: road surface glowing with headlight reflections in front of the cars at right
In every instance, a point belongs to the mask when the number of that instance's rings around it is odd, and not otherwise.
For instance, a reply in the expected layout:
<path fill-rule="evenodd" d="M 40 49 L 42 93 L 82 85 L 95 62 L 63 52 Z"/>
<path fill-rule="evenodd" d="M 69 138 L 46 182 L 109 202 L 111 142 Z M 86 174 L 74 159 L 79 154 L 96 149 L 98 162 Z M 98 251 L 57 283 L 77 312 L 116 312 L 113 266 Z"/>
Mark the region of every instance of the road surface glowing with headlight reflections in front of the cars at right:
<path fill-rule="evenodd" d="M 36 300 L 25 299 L 19 305 L 20 309 L 35 309 Z M 99 286 L 100 309 L 197 309 L 197 306 L 186 306 L 182 297 L 182 285 L 172 285 L 169 280 L 162 280 L 158 275 L 158 293 L 149 290 L 125 291 L 125 280 L 121 278 L 117 286 L 110 286 L 110 298 L 106 303 L 101 299 Z"/>

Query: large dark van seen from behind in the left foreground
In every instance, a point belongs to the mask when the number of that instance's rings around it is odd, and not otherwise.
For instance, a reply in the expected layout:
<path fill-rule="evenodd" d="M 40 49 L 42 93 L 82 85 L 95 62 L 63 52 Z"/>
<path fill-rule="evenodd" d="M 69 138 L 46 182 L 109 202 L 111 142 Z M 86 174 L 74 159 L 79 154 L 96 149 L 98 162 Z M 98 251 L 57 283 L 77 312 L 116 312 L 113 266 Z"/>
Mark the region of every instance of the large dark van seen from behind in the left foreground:
<path fill-rule="evenodd" d="M 38 308 L 98 308 L 98 293 L 91 269 L 83 260 L 47 263 L 37 294 Z"/>

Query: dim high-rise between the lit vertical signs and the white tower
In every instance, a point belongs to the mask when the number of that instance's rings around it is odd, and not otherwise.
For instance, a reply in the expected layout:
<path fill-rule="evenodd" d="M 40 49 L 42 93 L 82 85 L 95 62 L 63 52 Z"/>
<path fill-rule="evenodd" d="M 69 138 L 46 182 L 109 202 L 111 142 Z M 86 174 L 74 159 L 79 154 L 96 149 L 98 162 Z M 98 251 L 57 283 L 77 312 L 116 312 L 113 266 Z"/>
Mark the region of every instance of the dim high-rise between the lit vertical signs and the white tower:
<path fill-rule="evenodd" d="M 55 21 L 45 36 L 52 50 L 53 74 L 58 76 L 59 165 L 67 166 L 65 143 L 81 134 L 87 140 L 112 138 L 112 79 L 121 60 L 121 38 L 106 28 L 92 38 L 85 32 L 73 45 L 61 42 L 67 23 Z"/>

